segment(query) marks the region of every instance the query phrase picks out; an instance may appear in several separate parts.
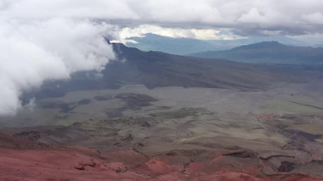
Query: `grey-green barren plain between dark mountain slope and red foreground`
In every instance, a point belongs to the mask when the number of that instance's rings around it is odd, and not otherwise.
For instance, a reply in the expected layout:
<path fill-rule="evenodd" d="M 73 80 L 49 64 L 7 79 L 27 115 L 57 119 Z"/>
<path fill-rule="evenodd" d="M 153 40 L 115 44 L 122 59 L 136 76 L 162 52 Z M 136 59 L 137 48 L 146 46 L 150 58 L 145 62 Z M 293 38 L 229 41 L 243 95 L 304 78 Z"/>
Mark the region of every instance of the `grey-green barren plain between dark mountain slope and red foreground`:
<path fill-rule="evenodd" d="M 2 118 L 1 132 L 102 154 L 132 150 L 181 165 L 184 171 L 176 179 L 187 174 L 188 165 L 201 164 L 196 169 L 206 171 L 213 164 L 209 161 L 220 157 L 219 169 L 245 170 L 243 163 L 252 167 L 250 174 L 257 172 L 270 180 L 281 180 L 273 176 L 278 173 L 319 179 L 323 176 L 322 89 L 323 83 L 312 81 L 282 82 L 255 92 L 143 85 L 76 91 L 37 100 L 36 107 Z"/>

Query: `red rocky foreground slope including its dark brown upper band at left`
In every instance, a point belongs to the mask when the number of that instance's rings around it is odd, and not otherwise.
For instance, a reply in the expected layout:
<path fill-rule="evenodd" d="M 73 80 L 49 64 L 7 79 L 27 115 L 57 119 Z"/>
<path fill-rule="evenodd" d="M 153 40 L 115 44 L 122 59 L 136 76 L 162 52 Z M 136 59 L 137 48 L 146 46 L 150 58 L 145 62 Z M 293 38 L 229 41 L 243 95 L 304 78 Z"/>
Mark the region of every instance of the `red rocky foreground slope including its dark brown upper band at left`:
<path fill-rule="evenodd" d="M 285 165 L 288 166 L 288 165 Z M 173 150 L 145 156 L 133 149 L 98 152 L 0 135 L 0 180 L 323 180 L 275 171 L 241 148 Z"/>

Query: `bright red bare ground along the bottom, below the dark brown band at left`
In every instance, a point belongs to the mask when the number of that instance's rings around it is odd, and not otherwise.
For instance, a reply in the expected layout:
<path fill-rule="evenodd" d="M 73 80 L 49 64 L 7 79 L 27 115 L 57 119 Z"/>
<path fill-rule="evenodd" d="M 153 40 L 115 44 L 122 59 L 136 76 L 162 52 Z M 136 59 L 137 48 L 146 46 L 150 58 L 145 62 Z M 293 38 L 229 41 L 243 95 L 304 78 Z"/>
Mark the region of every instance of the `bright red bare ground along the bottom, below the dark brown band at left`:
<path fill-rule="evenodd" d="M 176 160 L 178 158 L 175 158 Z M 322 180 L 304 174 L 264 176 L 261 167 L 247 160 L 222 156 L 203 162 L 170 164 L 164 156 L 147 158 L 132 150 L 97 154 L 95 150 L 68 149 L 0 149 L 0 180 L 196 180 L 196 181 L 309 181 Z M 178 159 L 180 160 L 180 159 Z M 239 162 L 240 161 L 240 162 Z M 230 162 L 244 170 L 222 166 Z"/>

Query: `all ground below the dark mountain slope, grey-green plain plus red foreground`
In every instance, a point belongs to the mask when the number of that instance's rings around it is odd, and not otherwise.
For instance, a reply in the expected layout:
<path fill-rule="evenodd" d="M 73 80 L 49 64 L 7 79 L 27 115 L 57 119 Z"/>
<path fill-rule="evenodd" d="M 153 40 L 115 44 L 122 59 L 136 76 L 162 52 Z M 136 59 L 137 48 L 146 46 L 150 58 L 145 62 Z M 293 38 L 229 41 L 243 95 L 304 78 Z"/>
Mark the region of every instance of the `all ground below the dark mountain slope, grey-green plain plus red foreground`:
<path fill-rule="evenodd" d="M 282 82 L 258 92 L 129 85 L 37 100 L 35 108 L 0 119 L 0 166 L 6 168 L 0 175 L 321 180 L 322 89 L 321 82 Z M 17 147 L 24 141 L 36 146 Z"/>

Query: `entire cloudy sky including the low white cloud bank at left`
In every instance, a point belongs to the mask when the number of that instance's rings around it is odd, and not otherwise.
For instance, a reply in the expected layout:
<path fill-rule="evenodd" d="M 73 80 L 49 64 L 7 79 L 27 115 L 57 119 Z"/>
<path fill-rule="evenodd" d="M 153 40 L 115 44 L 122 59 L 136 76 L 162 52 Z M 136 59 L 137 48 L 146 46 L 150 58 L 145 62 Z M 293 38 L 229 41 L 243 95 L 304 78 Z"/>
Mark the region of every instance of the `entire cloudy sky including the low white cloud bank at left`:
<path fill-rule="evenodd" d="M 320 0 L 0 0 L 0 115 L 45 80 L 118 61 L 103 36 L 155 33 L 174 38 L 289 36 L 320 43 Z M 323 44 L 323 43 L 322 43 Z"/>

